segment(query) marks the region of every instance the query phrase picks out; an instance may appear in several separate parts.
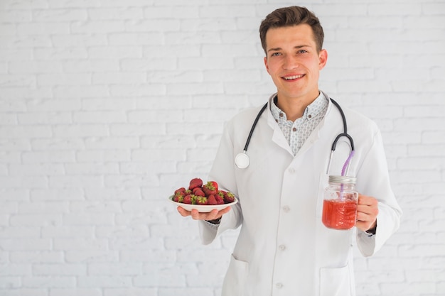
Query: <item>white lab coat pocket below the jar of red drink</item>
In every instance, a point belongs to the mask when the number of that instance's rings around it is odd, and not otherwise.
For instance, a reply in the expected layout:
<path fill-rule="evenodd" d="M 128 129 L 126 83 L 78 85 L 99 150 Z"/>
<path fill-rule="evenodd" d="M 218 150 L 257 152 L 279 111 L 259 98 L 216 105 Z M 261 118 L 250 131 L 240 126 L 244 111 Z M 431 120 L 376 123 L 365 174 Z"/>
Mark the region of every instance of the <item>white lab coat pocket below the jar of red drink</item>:
<path fill-rule="evenodd" d="M 352 296 L 350 268 L 320 269 L 320 296 Z"/>

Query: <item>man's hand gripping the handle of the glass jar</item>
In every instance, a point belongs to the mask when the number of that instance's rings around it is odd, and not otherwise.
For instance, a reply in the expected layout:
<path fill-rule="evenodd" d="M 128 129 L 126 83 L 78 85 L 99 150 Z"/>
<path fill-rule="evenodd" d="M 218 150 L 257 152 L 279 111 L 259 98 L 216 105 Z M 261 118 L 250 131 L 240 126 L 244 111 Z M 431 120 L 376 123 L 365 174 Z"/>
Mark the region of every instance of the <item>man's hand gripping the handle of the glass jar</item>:
<path fill-rule="evenodd" d="M 374 228 L 377 224 L 378 212 L 379 208 L 377 199 L 358 194 L 357 223 L 355 226 L 362 231 Z"/>

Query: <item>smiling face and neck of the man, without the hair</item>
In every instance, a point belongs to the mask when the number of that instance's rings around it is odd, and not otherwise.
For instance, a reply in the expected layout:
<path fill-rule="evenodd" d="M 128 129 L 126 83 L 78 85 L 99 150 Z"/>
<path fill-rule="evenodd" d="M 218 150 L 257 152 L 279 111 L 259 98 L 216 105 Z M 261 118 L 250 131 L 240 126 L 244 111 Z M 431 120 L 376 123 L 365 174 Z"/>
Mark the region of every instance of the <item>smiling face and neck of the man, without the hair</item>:
<path fill-rule="evenodd" d="M 326 65 L 326 50 L 317 52 L 312 28 L 307 24 L 271 28 L 266 33 L 264 65 L 283 99 L 318 97 L 318 77 Z"/>

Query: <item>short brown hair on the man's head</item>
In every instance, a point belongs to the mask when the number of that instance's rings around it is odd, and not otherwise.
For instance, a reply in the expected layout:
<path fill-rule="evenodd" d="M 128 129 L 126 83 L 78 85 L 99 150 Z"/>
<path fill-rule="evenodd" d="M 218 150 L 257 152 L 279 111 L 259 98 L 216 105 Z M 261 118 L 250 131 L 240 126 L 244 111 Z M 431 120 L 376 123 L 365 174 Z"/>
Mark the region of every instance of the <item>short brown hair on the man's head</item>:
<path fill-rule="evenodd" d="M 259 38 L 264 53 L 267 55 L 266 33 L 270 28 L 281 28 L 297 26 L 303 23 L 312 28 L 313 39 L 315 40 L 318 53 L 323 48 L 323 27 L 318 18 L 306 7 L 289 6 L 277 9 L 269 13 L 259 26 Z"/>

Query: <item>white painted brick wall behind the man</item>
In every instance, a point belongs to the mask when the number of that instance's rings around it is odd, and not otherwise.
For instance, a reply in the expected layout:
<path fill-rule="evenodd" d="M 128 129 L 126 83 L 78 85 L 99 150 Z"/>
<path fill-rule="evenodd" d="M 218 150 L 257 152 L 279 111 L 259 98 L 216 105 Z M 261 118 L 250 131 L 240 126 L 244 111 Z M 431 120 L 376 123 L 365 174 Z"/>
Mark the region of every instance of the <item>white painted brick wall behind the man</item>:
<path fill-rule="evenodd" d="M 201 246 L 166 197 L 262 104 L 259 22 L 294 1 L 0 1 L 0 296 L 219 295 L 237 231 Z M 358 295 L 445 295 L 445 3 L 302 1 L 321 89 L 375 119 L 404 209 Z"/>

